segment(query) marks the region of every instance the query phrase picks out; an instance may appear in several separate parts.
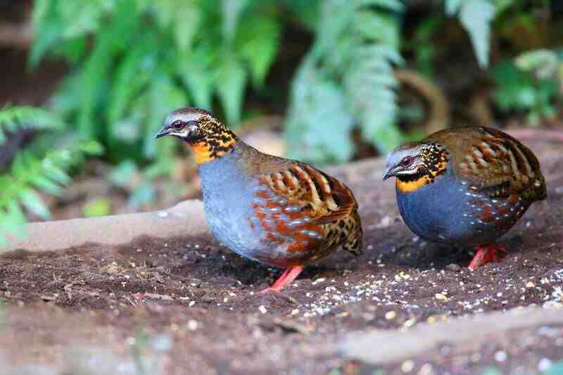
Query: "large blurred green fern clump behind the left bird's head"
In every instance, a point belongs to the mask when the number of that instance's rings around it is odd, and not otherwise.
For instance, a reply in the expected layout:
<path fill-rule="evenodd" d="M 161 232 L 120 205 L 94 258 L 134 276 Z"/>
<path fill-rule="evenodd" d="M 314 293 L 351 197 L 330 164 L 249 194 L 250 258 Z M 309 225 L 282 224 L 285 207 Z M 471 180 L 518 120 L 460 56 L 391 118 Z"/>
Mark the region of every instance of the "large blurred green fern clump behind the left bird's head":
<path fill-rule="evenodd" d="M 273 4 L 36 0 L 30 64 L 51 53 L 74 68 L 52 106 L 112 160 L 163 162 L 177 142 L 153 135 L 170 110 L 218 98 L 229 123 L 241 120 L 246 88 L 262 87 L 277 53 Z"/>

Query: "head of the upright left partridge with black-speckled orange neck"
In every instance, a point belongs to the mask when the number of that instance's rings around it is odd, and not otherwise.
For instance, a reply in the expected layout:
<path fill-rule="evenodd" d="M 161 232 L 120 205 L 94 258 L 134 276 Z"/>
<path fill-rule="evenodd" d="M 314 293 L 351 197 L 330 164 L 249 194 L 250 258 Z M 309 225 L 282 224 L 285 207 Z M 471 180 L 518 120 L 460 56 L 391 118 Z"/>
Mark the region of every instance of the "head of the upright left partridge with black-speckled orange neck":
<path fill-rule="evenodd" d="M 167 115 L 155 138 L 170 135 L 189 144 L 201 165 L 231 151 L 238 138 L 211 113 L 200 108 L 181 108 Z"/>

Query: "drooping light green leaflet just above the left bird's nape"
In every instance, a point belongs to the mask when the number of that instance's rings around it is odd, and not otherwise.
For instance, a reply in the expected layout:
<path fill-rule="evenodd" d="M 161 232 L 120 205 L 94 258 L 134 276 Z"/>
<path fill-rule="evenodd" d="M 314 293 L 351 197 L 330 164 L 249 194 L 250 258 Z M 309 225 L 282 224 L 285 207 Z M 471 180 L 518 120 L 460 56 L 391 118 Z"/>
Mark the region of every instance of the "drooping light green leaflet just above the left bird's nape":
<path fill-rule="evenodd" d="M 241 120 L 246 78 L 246 70 L 233 56 L 226 56 L 217 68 L 215 86 L 229 124 L 236 125 Z"/>

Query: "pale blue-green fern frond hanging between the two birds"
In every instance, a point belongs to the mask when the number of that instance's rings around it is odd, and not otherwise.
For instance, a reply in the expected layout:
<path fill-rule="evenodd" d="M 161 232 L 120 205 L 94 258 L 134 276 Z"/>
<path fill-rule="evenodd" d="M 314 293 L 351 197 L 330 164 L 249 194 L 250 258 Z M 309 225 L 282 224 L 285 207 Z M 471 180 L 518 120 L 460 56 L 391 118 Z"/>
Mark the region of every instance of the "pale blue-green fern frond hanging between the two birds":
<path fill-rule="evenodd" d="M 403 63 L 397 17 L 402 10 L 392 0 L 324 2 L 317 39 L 293 82 L 286 123 L 287 136 L 296 138 L 288 142 L 293 156 L 313 163 L 348 160 L 353 125 L 382 152 L 403 140 L 393 75 L 393 65 Z M 329 133 L 339 136 L 322 136 Z"/>

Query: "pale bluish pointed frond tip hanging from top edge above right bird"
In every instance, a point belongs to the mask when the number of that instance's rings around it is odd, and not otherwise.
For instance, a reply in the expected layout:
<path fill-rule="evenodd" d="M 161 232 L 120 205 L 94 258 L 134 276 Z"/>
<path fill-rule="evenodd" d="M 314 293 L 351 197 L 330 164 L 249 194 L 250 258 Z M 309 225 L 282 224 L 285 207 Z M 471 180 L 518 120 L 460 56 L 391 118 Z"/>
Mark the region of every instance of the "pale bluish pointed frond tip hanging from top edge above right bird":
<path fill-rule="evenodd" d="M 467 0 L 460 9 L 460 22 L 469 33 L 477 61 L 482 68 L 488 65 L 491 22 L 494 16 L 495 6 L 488 0 Z"/>

